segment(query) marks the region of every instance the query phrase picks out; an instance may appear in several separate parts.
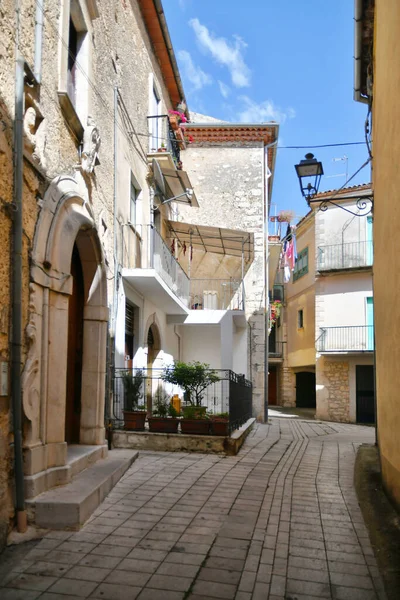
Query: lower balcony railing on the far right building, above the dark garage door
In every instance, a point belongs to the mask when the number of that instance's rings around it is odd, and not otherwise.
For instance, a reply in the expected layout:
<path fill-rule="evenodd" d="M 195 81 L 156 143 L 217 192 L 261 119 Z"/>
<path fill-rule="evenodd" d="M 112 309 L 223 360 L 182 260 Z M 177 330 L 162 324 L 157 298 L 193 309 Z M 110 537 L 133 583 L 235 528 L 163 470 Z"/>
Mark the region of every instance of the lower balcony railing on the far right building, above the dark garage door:
<path fill-rule="evenodd" d="M 321 327 L 316 346 L 318 352 L 373 352 L 374 327 Z"/>

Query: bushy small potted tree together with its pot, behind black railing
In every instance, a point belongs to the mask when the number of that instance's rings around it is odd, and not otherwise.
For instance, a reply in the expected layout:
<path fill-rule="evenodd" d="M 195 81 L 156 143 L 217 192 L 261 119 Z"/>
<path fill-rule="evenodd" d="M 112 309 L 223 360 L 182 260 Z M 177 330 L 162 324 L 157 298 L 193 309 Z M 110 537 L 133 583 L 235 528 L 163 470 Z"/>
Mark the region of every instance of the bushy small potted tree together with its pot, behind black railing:
<path fill-rule="evenodd" d="M 209 433 L 210 421 L 205 414 L 207 407 L 202 406 L 201 403 L 206 388 L 219 381 L 217 373 L 206 363 L 177 361 L 165 369 L 161 378 L 163 381 L 178 385 L 185 392 L 188 406 L 183 409 L 182 433 Z"/>

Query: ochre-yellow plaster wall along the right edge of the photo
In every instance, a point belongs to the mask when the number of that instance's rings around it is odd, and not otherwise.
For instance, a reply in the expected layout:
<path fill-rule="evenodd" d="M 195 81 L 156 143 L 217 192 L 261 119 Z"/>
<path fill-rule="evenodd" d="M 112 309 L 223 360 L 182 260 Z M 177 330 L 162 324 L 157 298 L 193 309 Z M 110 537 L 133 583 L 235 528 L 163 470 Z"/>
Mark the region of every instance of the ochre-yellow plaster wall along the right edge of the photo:
<path fill-rule="evenodd" d="M 400 3 L 375 2 L 373 187 L 378 436 L 387 491 L 400 505 Z"/>

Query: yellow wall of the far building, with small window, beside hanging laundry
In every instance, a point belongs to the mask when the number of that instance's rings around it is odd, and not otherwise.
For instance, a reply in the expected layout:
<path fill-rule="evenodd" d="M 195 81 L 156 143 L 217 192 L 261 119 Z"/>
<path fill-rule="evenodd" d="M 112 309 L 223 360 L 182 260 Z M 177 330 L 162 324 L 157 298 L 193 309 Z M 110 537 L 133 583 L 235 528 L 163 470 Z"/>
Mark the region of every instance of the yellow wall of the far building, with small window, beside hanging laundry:
<path fill-rule="evenodd" d="M 315 364 L 315 219 L 307 217 L 296 233 L 297 253 L 308 247 L 308 273 L 286 285 L 288 364 L 302 367 Z M 304 327 L 297 326 L 298 311 L 303 310 Z"/>

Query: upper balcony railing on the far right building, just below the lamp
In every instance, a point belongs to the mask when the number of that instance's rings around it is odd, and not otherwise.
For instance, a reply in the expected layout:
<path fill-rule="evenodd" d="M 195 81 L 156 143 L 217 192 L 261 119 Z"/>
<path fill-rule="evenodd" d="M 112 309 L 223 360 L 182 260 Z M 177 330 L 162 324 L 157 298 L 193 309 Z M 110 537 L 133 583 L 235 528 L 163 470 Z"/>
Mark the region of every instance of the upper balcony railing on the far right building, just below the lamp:
<path fill-rule="evenodd" d="M 333 244 L 331 246 L 319 246 L 318 248 L 318 271 L 358 269 L 370 267 L 372 262 L 372 241 Z"/>

